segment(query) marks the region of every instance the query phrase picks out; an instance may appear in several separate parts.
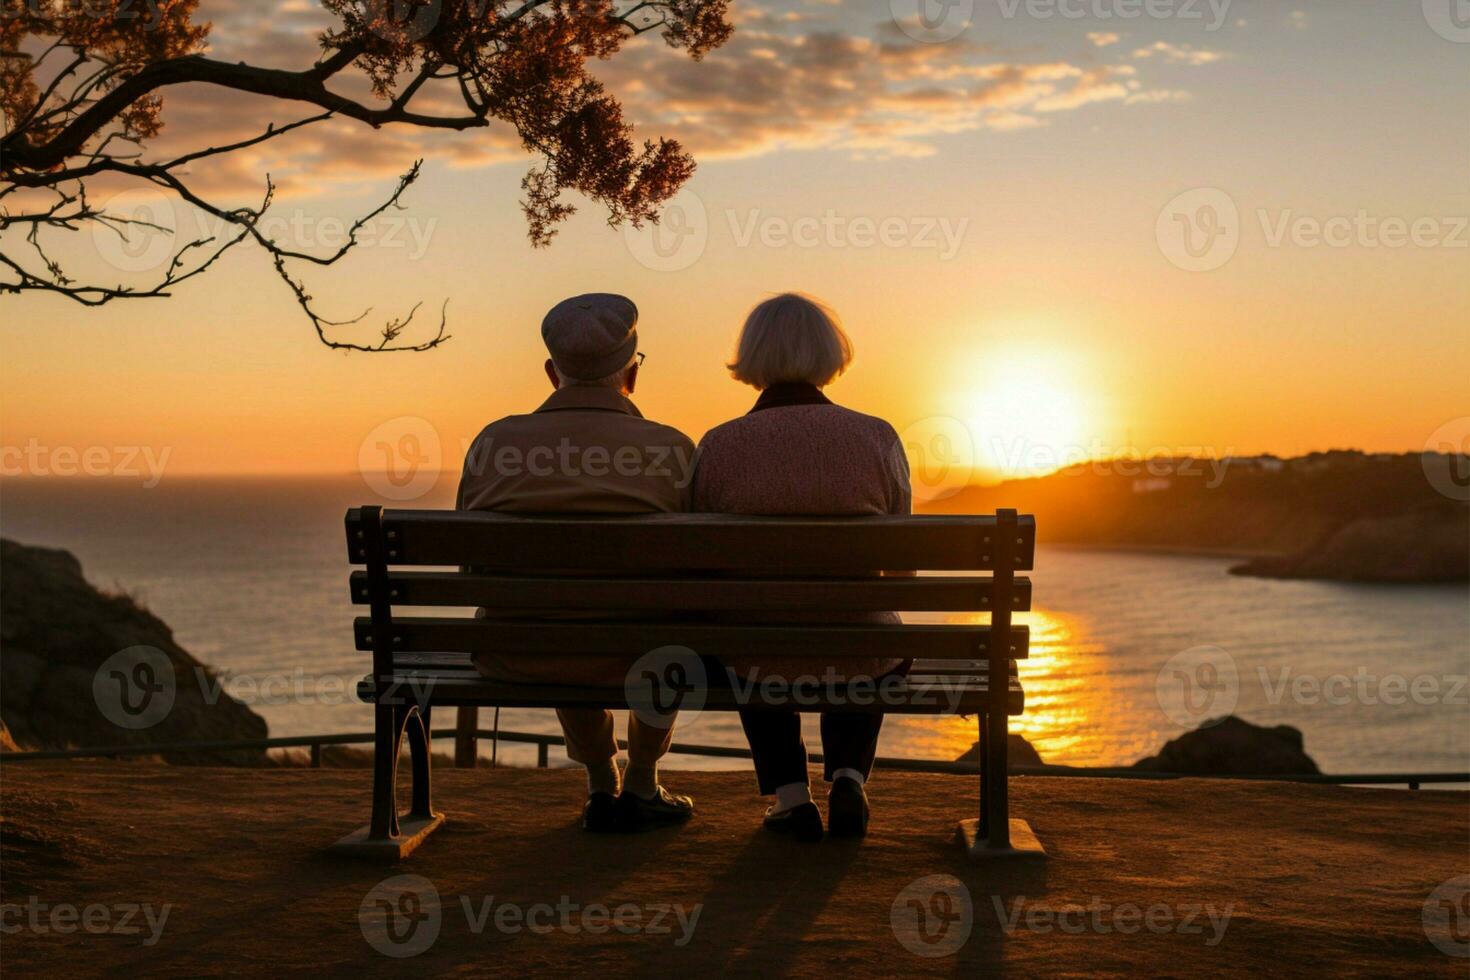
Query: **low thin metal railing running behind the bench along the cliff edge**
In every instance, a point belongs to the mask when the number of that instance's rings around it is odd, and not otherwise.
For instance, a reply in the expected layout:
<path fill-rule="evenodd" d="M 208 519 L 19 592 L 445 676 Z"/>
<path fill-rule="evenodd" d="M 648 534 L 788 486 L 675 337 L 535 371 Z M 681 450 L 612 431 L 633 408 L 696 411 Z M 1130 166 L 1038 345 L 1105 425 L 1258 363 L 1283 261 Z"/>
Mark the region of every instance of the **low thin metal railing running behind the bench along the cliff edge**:
<path fill-rule="evenodd" d="M 465 732 L 457 729 L 435 729 L 434 738 L 453 741 L 456 735 L 465 735 Z M 492 732 L 488 729 L 475 729 L 476 739 L 500 739 L 501 742 L 520 743 L 520 745 L 535 745 L 537 746 L 537 767 L 547 768 L 551 764 L 551 746 L 566 745 L 566 739 L 560 735 L 542 735 L 539 732 Z M 290 749 L 290 748 L 304 748 L 310 752 L 310 764 L 313 768 L 322 764 L 322 748 L 328 745 L 370 745 L 373 742 L 372 732 L 351 732 L 345 735 L 295 735 L 273 739 L 241 739 L 241 741 L 226 741 L 226 742 L 153 742 L 144 745 L 100 745 L 100 746 L 84 746 L 84 748 L 69 748 L 69 749 L 38 749 L 28 752 L 0 752 L 0 764 L 3 763 L 31 763 L 44 760 L 72 760 L 72 758 L 116 758 L 126 755 L 178 755 L 188 752 L 228 752 L 228 751 L 253 751 L 253 749 Z M 626 749 L 628 743 L 622 739 L 617 742 L 619 748 Z M 697 745 L 692 742 L 675 742 L 670 746 L 672 752 L 682 755 L 704 755 L 711 758 L 750 758 L 750 749 L 738 748 L 732 745 Z M 820 764 L 823 761 L 820 752 L 811 752 L 810 761 Z M 923 760 L 923 758 L 888 758 L 879 757 L 879 767 L 901 771 L 901 773 L 957 773 L 957 774 L 979 774 L 979 763 L 961 763 L 950 760 Z M 1154 773 L 1136 768 L 1120 768 L 1120 767 L 1085 767 L 1085 765 L 1013 765 L 1010 768 L 1011 776 L 1051 776 L 1051 777 L 1072 777 L 1072 779 L 1144 779 L 1144 780 L 1161 780 L 1161 779 L 1235 779 L 1235 780 L 1276 780 L 1289 783 L 1319 783 L 1329 786 L 1408 786 L 1410 789 L 1419 789 L 1427 785 L 1452 785 L 1452 783 L 1470 783 L 1470 773 L 1316 773 L 1316 774 L 1294 774 L 1294 773 L 1260 773 L 1260 774 L 1216 774 L 1216 773 Z"/>

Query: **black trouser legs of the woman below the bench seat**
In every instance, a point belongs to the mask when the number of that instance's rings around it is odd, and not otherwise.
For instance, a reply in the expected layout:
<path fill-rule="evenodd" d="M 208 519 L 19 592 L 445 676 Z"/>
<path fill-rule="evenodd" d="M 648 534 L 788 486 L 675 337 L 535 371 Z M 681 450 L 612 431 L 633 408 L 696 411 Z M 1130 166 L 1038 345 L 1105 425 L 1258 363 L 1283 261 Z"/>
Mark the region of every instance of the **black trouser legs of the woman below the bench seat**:
<path fill-rule="evenodd" d="M 747 710 L 739 713 L 739 723 L 750 742 L 761 796 L 776 792 L 776 786 L 807 782 L 807 743 L 801 738 L 800 711 Z M 876 711 L 823 711 L 822 755 L 826 761 L 822 777 L 831 783 L 836 770 L 856 768 L 867 779 L 882 727 L 883 716 Z"/>

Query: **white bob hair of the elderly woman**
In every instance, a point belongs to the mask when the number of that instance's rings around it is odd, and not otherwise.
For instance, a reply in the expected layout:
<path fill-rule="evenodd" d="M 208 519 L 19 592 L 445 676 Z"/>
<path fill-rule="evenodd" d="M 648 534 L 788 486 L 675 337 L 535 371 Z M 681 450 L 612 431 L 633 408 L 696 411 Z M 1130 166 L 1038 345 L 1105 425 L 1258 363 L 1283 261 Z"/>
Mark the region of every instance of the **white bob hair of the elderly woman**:
<path fill-rule="evenodd" d="M 836 313 L 800 292 L 782 292 L 745 317 L 726 364 L 735 381 L 764 391 L 781 382 L 823 388 L 853 363 L 853 341 Z"/>

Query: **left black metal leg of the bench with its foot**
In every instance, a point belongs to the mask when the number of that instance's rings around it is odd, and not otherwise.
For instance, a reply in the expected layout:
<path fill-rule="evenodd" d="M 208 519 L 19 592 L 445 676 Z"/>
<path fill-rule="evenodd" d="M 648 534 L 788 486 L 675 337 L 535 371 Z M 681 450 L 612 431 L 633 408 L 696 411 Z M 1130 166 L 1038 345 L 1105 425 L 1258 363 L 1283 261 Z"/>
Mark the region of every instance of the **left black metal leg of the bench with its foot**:
<path fill-rule="evenodd" d="M 373 708 L 372 820 L 332 845 L 332 851 L 382 861 L 400 861 L 440 829 L 444 814 L 434 813 L 429 771 L 429 710 L 416 704 L 379 704 Z M 409 736 L 412 804 L 398 817 L 398 754 Z"/>

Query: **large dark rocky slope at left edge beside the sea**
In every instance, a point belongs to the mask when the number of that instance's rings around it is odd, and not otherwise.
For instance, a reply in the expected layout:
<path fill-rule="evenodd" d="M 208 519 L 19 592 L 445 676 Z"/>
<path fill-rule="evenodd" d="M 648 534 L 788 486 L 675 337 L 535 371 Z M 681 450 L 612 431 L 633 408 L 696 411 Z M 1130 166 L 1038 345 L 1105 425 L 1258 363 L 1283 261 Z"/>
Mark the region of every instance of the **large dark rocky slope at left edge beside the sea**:
<path fill-rule="evenodd" d="M 0 539 L 0 717 L 22 749 L 266 738 L 172 630 L 66 551 Z M 259 765 L 263 751 L 166 752 Z"/>

